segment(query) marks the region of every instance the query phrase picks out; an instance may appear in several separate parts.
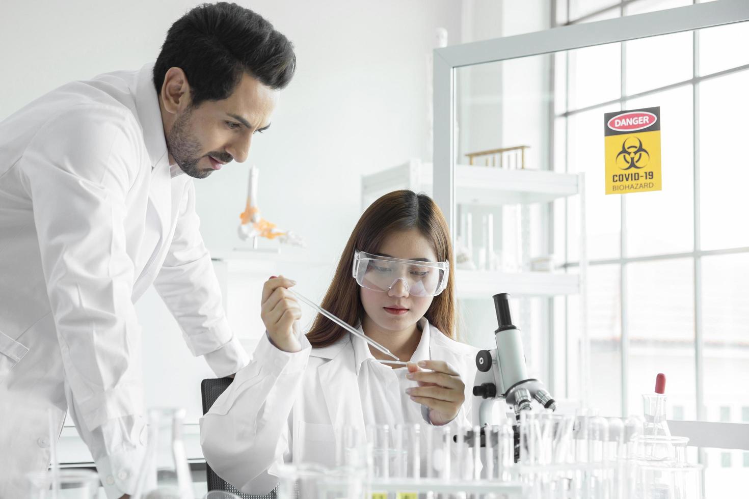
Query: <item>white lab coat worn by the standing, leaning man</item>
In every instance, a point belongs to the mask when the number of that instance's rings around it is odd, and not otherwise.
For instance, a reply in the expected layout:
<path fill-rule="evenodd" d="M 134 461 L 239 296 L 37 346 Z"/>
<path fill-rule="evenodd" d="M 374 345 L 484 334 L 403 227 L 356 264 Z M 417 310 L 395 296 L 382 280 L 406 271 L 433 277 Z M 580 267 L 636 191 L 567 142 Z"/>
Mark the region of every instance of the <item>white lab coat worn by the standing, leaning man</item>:
<path fill-rule="evenodd" d="M 152 68 L 64 85 L 0 123 L 0 498 L 25 497 L 24 474 L 46 469 L 47 410 L 58 429 L 67 408 L 110 497 L 133 492 L 133 303 L 151 284 L 218 376 L 248 360 L 192 179 L 170 173 Z"/>

